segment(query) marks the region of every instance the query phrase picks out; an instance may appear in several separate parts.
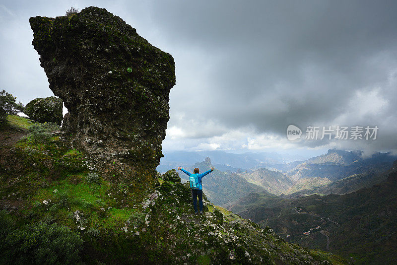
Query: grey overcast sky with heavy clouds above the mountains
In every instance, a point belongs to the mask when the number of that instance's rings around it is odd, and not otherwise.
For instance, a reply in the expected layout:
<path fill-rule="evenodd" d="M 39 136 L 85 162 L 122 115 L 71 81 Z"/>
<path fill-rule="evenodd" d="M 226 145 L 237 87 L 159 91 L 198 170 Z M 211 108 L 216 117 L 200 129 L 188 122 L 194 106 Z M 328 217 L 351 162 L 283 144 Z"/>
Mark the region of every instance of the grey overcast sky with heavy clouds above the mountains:
<path fill-rule="evenodd" d="M 24 104 L 52 96 L 29 17 L 90 5 L 174 57 L 165 151 L 397 151 L 397 1 L 1 0 L 0 89 Z M 308 126 L 379 129 L 306 140 Z"/>

